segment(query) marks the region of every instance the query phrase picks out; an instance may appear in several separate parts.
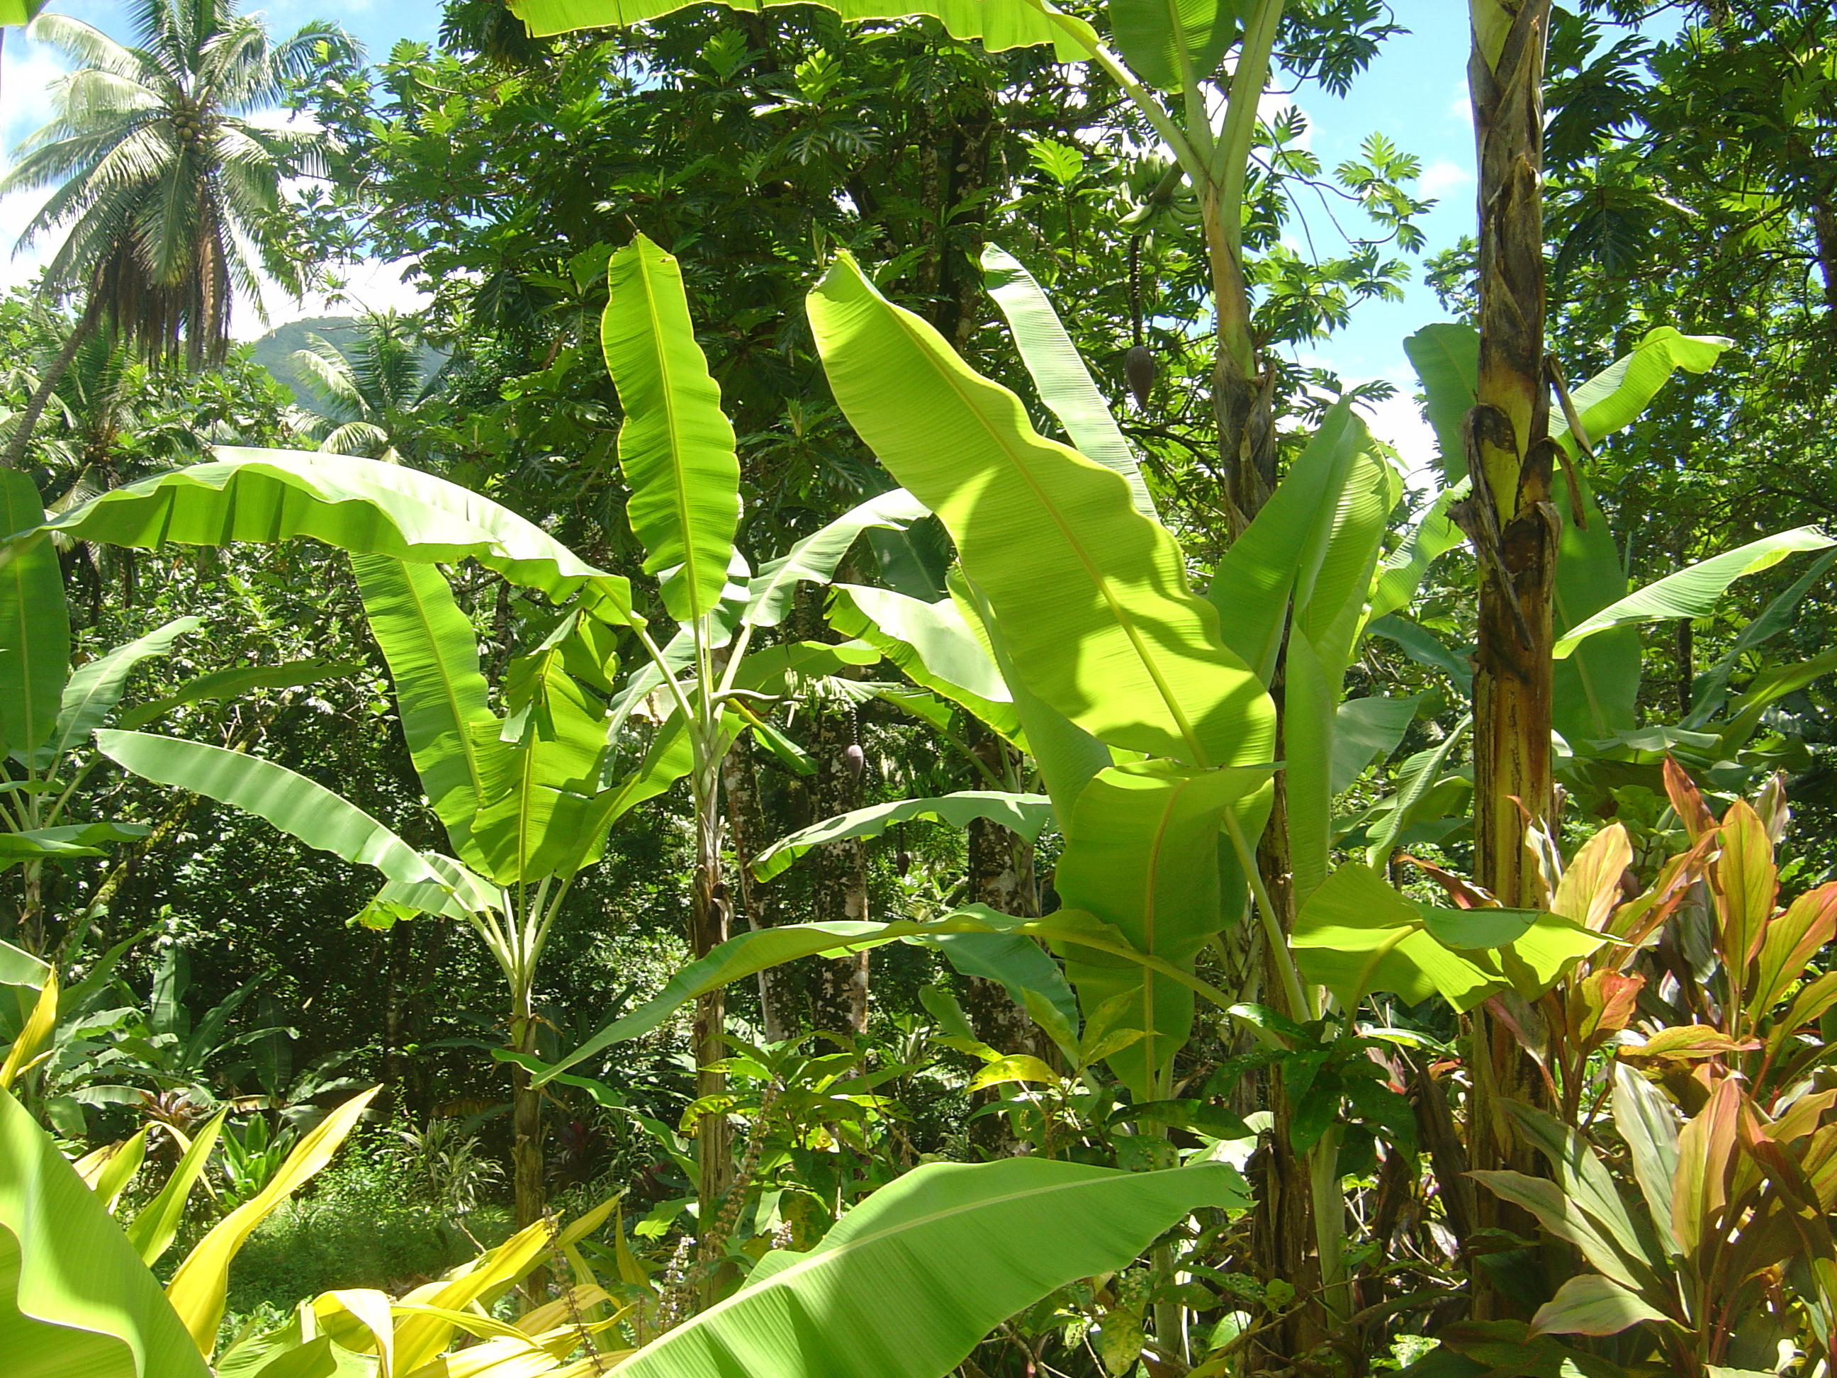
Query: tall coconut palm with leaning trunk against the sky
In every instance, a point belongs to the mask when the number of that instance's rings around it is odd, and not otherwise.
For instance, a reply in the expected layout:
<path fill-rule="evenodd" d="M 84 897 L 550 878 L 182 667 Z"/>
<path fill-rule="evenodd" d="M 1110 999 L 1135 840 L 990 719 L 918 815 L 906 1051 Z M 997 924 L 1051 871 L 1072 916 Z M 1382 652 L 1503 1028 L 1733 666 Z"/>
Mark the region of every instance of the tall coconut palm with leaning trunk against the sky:
<path fill-rule="evenodd" d="M 62 232 L 42 290 L 85 296 L 77 325 L 33 391 L 6 450 L 18 465 L 83 338 L 103 320 L 149 356 L 219 362 L 237 292 L 261 301 L 266 276 L 296 298 L 309 266 L 290 254 L 283 184 L 323 176 L 329 141 L 250 119 L 292 79 L 355 61 L 332 24 L 270 42 L 235 0 L 136 0 L 140 46 L 66 15 L 31 37 L 79 62 L 55 90 L 57 118 L 20 147 L 0 195 L 57 187 L 20 237 Z"/>

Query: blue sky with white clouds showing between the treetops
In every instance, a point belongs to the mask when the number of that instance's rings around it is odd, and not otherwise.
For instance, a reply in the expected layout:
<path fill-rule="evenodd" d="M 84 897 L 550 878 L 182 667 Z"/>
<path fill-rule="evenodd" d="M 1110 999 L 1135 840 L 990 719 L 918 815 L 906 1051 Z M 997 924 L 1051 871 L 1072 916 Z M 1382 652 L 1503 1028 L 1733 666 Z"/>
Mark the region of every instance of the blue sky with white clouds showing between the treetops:
<path fill-rule="evenodd" d="M 51 0 L 51 7 L 97 26 L 105 33 L 127 39 L 127 6 L 121 0 Z M 252 6 L 254 7 L 254 6 Z M 439 28 L 439 6 L 434 0 L 276 0 L 261 6 L 277 31 L 290 31 L 310 18 L 329 18 L 356 35 L 371 55 L 388 53 L 399 39 L 432 40 Z M 1396 22 L 1409 29 L 1380 48 L 1378 59 L 1345 97 L 1328 96 L 1317 88 L 1302 88 L 1286 97 L 1271 97 L 1266 107 L 1286 101 L 1299 105 L 1310 123 L 1308 143 L 1332 169 L 1345 158 L 1358 156 L 1361 140 L 1381 132 L 1405 152 L 1422 160 L 1420 195 L 1433 195 L 1438 204 L 1426 219 L 1429 250 L 1453 244 L 1473 226 L 1473 130 L 1466 114 L 1466 55 L 1468 26 L 1464 6 L 1453 0 L 1392 0 Z M 59 57 L 40 44 L 26 40 L 18 29 L 6 35 L 4 64 L 0 64 L 0 136 L 11 149 L 24 134 L 39 127 L 50 114 L 48 86 L 62 70 Z M 37 198 L 13 197 L 0 202 L 0 235 L 9 243 L 35 208 Z M 1306 252 L 1310 237 L 1321 254 L 1334 252 L 1337 235 L 1319 206 L 1302 206 L 1306 233 L 1295 233 L 1295 246 Z M 1348 230 L 1358 232 L 1358 211 L 1341 217 Z M 0 259 L 0 285 L 18 283 L 31 276 L 35 254 Z M 360 270 L 351 279 L 353 294 L 367 305 L 410 305 L 399 283 L 399 274 L 378 265 Z M 270 301 L 270 314 L 287 320 L 312 314 L 323 303 L 309 301 L 294 307 Z M 252 312 L 241 329 L 259 333 Z M 1319 342 L 1297 356 L 1319 360 L 1335 367 L 1347 380 L 1389 378 L 1402 395 L 1378 408 L 1374 430 L 1391 439 L 1411 459 L 1426 456 L 1427 432 L 1416 415 L 1409 393 L 1414 388 L 1402 340 L 1416 327 L 1440 320 L 1433 292 L 1422 287 L 1420 265 L 1411 266 L 1411 285 L 1402 303 L 1365 303 L 1347 331 Z"/>

